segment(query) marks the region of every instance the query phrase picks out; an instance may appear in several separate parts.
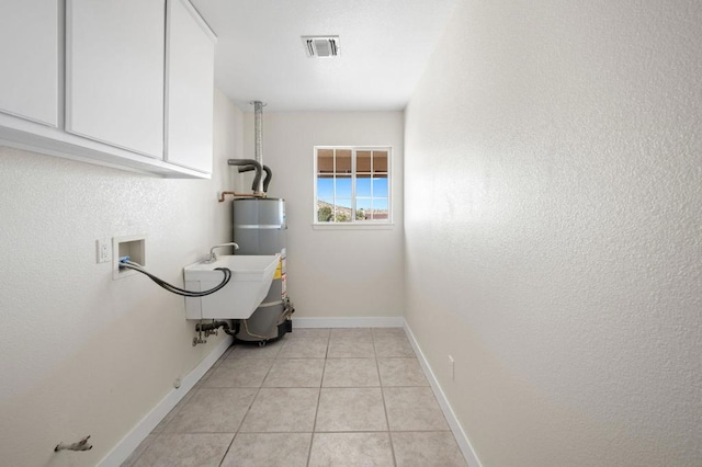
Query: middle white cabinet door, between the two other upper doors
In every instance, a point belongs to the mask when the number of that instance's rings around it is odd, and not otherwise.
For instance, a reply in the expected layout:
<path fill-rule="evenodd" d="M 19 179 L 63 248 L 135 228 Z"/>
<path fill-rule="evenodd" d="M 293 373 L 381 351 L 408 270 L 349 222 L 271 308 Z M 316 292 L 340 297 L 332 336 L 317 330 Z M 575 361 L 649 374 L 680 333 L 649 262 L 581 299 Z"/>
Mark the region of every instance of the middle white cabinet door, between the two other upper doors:
<path fill-rule="evenodd" d="M 66 130 L 163 157 L 165 0 L 68 0 Z"/>

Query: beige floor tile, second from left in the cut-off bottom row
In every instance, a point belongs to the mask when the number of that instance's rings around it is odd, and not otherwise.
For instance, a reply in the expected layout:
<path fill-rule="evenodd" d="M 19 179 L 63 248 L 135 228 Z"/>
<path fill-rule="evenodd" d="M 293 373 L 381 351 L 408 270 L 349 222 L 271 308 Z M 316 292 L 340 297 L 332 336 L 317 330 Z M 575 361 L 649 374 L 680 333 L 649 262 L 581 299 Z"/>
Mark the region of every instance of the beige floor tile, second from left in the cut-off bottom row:
<path fill-rule="evenodd" d="M 238 433 L 222 467 L 305 467 L 312 433 Z"/>

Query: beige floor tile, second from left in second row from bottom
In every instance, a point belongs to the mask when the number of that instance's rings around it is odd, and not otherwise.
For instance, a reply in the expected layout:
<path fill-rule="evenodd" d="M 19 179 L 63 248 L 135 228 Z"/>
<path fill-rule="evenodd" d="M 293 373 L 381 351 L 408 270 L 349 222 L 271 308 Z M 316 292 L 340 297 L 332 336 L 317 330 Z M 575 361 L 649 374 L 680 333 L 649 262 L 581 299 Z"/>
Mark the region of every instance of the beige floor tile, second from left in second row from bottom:
<path fill-rule="evenodd" d="M 309 433 L 318 399 L 319 389 L 261 388 L 239 431 Z"/>

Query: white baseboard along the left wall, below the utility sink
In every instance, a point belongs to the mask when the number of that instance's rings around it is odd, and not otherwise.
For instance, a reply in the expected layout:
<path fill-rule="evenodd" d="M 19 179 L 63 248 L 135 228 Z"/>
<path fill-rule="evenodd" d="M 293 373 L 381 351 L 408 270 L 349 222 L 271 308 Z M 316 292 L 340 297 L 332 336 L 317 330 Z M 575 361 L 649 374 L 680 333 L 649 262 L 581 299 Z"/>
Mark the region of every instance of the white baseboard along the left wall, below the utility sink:
<path fill-rule="evenodd" d="M 173 407 L 188 394 L 189 390 L 207 373 L 207 369 L 217 362 L 234 342 L 234 338 L 227 335 L 197 366 L 182 378 L 180 388 L 172 389 L 149 413 L 146 414 L 136 426 L 127 433 L 112 448 L 105 457 L 100 460 L 101 467 L 120 467 L 139 444 L 151 433 L 161 420 L 171 411 Z"/>

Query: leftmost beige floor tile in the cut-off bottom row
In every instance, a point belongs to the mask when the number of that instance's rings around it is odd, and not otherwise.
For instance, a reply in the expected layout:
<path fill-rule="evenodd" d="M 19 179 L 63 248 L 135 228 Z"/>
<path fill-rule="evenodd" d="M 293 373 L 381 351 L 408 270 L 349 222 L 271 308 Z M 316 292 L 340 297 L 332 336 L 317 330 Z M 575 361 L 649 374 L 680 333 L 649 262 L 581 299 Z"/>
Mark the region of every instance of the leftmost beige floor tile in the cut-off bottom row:
<path fill-rule="evenodd" d="M 234 433 L 160 434 L 134 467 L 216 467 L 227 452 Z"/>

